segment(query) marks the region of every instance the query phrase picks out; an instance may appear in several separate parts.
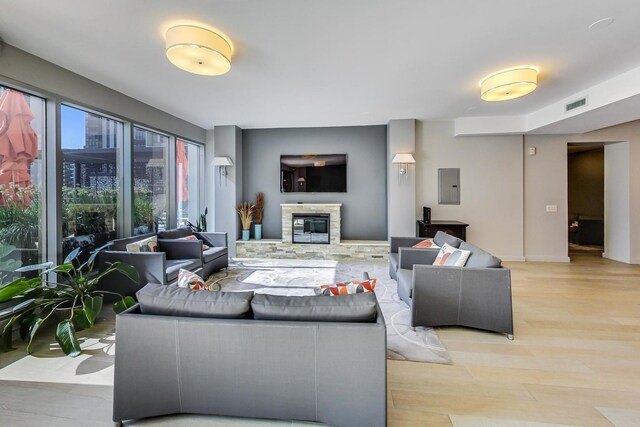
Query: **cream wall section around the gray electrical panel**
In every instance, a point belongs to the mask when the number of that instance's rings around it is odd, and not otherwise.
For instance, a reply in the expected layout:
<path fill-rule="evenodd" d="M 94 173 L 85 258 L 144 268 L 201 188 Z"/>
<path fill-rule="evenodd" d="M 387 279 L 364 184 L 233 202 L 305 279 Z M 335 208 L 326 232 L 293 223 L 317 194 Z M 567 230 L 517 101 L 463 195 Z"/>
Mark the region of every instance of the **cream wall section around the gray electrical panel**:
<path fill-rule="evenodd" d="M 453 121 L 418 121 L 416 211 L 469 224 L 467 240 L 503 260 L 523 260 L 522 136 L 454 137 Z M 438 204 L 438 168 L 460 168 L 460 205 Z"/>

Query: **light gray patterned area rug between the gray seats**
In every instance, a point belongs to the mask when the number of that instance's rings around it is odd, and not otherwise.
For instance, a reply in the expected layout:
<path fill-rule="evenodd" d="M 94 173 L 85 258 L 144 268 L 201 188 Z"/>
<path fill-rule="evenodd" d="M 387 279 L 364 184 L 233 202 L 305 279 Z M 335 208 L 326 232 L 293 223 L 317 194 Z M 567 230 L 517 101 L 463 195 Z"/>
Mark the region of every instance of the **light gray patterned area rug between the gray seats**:
<path fill-rule="evenodd" d="M 323 284 L 360 280 L 364 272 L 376 279 L 387 324 L 387 358 L 451 364 L 432 328 L 410 326 L 409 306 L 398 297 L 387 263 L 235 258 L 228 269 L 209 276 L 207 284 L 211 290 L 302 296 L 315 295 L 313 289 Z"/>

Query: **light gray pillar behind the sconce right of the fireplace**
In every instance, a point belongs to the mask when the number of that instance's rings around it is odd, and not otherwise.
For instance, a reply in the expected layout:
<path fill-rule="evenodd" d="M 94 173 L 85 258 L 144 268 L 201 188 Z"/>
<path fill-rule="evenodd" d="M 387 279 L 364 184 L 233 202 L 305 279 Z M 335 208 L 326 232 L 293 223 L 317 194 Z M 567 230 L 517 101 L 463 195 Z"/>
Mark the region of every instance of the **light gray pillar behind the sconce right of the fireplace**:
<path fill-rule="evenodd" d="M 399 165 L 391 164 L 398 153 L 416 150 L 415 119 L 390 120 L 387 125 L 387 221 L 389 236 L 416 235 L 416 169 L 409 165 L 407 175 L 399 177 Z M 414 155 L 415 157 L 415 155 Z"/>

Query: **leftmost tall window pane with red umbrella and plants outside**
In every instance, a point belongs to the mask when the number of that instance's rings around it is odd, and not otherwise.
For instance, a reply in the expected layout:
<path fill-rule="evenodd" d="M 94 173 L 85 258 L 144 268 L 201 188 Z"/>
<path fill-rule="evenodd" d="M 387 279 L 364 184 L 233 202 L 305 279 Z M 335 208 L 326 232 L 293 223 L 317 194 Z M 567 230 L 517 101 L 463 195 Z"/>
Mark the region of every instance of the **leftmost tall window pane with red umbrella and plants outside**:
<path fill-rule="evenodd" d="M 45 107 L 40 97 L 0 86 L 0 244 L 13 247 L 5 260 L 22 264 L 41 261 L 44 248 Z"/>

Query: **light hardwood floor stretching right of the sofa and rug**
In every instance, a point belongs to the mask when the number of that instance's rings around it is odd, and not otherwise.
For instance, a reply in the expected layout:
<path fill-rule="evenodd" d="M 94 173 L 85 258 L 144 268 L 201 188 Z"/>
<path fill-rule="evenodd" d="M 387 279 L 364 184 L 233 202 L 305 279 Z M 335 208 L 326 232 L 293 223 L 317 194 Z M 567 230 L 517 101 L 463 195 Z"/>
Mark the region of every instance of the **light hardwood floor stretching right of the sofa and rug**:
<path fill-rule="evenodd" d="M 507 263 L 515 340 L 437 329 L 453 365 L 389 362 L 392 426 L 640 426 L 640 266 Z"/>

